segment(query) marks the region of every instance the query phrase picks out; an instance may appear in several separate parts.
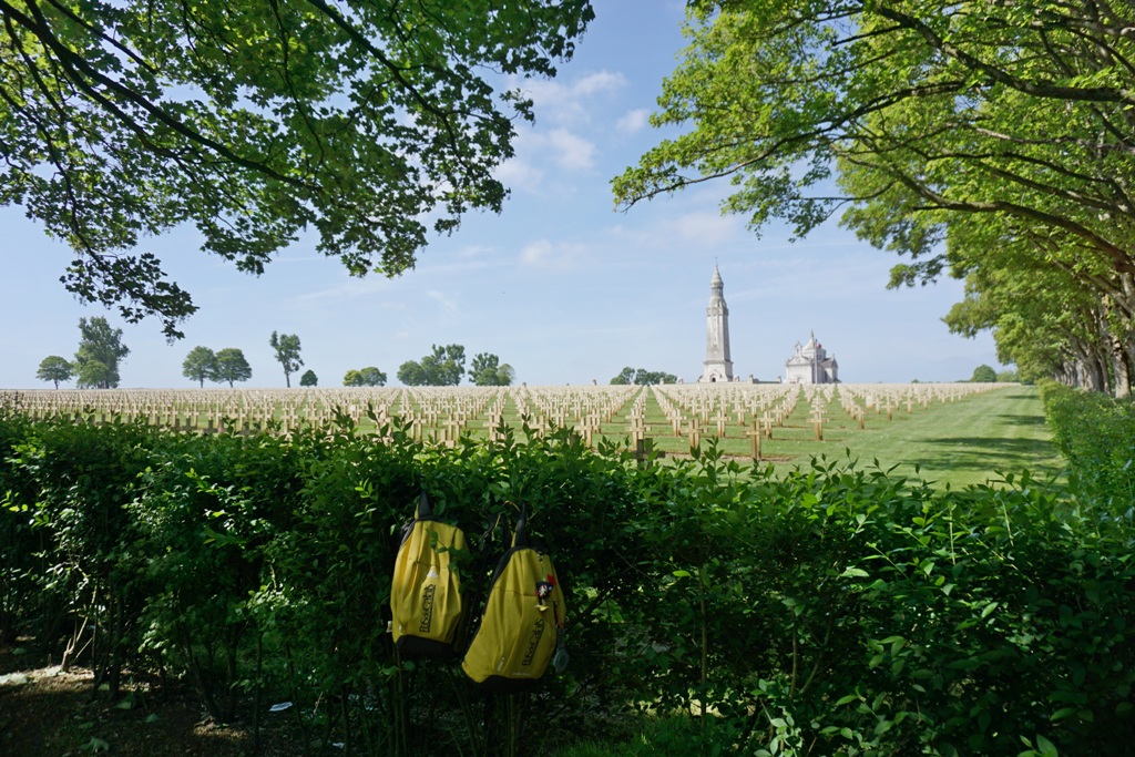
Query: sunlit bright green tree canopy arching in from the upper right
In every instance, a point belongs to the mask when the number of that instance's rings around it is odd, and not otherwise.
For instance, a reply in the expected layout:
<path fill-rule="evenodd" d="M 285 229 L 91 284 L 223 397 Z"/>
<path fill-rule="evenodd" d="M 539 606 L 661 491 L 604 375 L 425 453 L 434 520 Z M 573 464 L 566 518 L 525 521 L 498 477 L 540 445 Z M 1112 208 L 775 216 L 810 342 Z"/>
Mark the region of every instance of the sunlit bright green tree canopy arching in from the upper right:
<path fill-rule="evenodd" d="M 1042 0 L 689 5 L 691 45 L 653 116 L 686 131 L 615 178 L 616 203 L 725 178 L 724 210 L 754 229 L 780 218 L 800 236 L 842 210 L 861 238 L 908 256 L 892 285 L 947 270 L 1053 271 L 1098 304 L 1107 380 L 1129 390 L 1135 37 L 1120 11 Z"/>

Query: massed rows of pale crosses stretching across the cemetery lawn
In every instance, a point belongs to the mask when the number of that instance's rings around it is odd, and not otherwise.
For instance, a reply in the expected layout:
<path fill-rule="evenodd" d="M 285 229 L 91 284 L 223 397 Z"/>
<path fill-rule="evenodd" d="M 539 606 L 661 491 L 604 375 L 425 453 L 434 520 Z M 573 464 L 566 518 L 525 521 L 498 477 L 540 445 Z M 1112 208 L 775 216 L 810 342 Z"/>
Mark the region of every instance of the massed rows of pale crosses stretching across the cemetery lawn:
<path fill-rule="evenodd" d="M 868 413 L 892 417 L 894 410 L 931 403 L 956 402 L 967 395 L 997 388 L 994 384 L 841 384 L 753 385 L 690 384 L 585 387 L 336 387 L 309 389 L 83 389 L 0 392 L 0 406 L 32 418 L 144 419 L 154 424 L 190 430 L 264 428 L 270 421 L 287 434 L 301 426 L 320 427 L 336 413 L 356 424 L 375 418 L 377 427 L 398 415 L 409 422 L 415 438 L 452 445 L 461 434 L 486 429 L 490 438 L 508 418 L 516 418 L 544 432 L 571 427 L 590 446 L 627 411 L 627 426 L 636 448 L 650 435 L 647 403 L 653 397 L 666 417 L 673 436 L 687 436 L 691 446 L 703 435 L 729 436 L 729 427 L 747 428 L 746 436 L 759 456 L 760 438 L 771 439 L 774 427 L 784 424 L 799 401 L 810 407 L 809 420 L 817 439 L 823 438 L 827 407 L 838 401 L 863 428 Z"/>

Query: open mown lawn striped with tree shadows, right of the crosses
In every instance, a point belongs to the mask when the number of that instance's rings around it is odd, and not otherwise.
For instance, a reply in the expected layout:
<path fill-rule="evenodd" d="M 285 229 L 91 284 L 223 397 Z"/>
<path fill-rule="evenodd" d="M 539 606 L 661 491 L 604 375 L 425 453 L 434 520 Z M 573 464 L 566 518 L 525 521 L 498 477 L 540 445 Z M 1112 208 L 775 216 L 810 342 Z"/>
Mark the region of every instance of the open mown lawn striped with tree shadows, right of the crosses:
<path fill-rule="evenodd" d="M 1059 476 L 1062 462 L 1036 387 L 1011 386 L 953 403 L 932 404 L 914 413 L 896 411 L 893 419 L 868 415 L 863 430 L 843 426 L 824 441 L 766 443 L 771 456 L 791 455 L 774 463 L 798 468 L 813 456 L 851 459 L 859 464 L 877 460 L 885 470 L 917 474 L 936 486 L 995 483 L 1003 474 L 1028 470 L 1035 479 Z"/>

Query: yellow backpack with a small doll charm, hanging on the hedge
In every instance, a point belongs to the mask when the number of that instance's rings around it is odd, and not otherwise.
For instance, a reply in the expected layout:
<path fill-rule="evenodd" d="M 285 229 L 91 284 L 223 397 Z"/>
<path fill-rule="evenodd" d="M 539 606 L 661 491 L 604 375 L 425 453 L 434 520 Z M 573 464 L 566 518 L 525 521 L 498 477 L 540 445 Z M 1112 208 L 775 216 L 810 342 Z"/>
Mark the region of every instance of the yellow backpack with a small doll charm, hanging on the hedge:
<path fill-rule="evenodd" d="M 568 664 L 564 595 L 552 557 L 528 540 L 522 510 L 510 548 L 497 565 L 485 612 L 461 670 L 493 691 L 530 688 L 554 663 Z"/>

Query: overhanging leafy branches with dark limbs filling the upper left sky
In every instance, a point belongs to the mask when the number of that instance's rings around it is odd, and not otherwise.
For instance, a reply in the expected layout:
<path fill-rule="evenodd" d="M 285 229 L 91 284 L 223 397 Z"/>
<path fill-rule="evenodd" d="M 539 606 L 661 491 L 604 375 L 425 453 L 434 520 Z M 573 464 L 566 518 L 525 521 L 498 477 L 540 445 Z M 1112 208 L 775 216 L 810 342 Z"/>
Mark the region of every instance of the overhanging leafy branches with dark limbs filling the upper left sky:
<path fill-rule="evenodd" d="M 426 244 L 499 211 L 518 92 L 482 72 L 554 76 L 589 0 L 185 6 L 0 2 L 0 204 L 66 239 L 67 287 L 162 319 L 196 308 L 129 251 L 194 224 L 254 274 L 314 226 L 347 270 L 396 275 Z"/>

